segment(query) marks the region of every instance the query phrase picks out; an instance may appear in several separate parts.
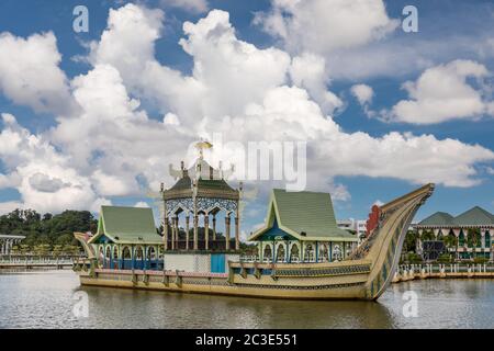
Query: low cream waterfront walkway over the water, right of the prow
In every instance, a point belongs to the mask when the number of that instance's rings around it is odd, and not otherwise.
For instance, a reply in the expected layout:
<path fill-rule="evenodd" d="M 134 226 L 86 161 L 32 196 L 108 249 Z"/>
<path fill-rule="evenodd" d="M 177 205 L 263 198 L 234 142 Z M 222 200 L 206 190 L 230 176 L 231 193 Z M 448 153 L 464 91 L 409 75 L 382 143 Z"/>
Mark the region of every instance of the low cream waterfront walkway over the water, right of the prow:
<path fill-rule="evenodd" d="M 400 265 L 393 283 L 415 279 L 494 278 L 494 264 L 428 263 Z"/>

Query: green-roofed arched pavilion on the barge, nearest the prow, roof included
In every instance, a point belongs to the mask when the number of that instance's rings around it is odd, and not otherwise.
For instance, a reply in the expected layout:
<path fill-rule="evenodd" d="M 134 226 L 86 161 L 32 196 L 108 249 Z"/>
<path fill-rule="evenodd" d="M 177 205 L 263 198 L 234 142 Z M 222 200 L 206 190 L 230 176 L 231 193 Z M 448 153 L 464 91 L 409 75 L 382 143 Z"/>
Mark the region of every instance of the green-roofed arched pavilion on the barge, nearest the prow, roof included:
<path fill-rule="evenodd" d="M 262 262 L 340 261 L 358 237 L 338 228 L 328 193 L 273 189 L 265 226 L 249 241 L 258 242 Z"/>

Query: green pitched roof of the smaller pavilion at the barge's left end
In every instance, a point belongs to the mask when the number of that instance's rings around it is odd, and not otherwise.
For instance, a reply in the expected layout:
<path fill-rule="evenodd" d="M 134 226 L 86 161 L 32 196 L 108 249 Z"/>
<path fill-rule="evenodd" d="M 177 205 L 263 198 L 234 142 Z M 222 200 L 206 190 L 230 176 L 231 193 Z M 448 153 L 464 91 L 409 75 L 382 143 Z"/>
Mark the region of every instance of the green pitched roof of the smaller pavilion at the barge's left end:
<path fill-rule="evenodd" d="M 101 206 L 98 233 L 90 242 L 102 235 L 121 244 L 161 244 L 150 208 Z"/>

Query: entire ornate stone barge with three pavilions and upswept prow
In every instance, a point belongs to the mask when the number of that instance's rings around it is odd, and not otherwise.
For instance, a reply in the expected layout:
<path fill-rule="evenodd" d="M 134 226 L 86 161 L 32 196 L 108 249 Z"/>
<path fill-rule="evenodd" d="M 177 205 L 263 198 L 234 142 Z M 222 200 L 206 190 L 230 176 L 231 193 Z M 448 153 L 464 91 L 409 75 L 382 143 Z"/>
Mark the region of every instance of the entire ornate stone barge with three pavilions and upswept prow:
<path fill-rule="evenodd" d="M 190 169 L 182 162 L 170 173 L 177 182 L 161 185 L 160 234 L 150 208 L 115 206 L 102 206 L 96 235 L 75 234 L 87 253 L 74 265 L 82 285 L 373 301 L 391 283 L 409 224 L 434 191 L 427 184 L 372 206 L 367 238 L 357 247 L 355 235 L 336 226 L 329 194 L 273 190 L 265 226 L 248 239 L 258 252 L 247 258 L 239 253 L 242 184 L 231 188 L 227 172 L 211 167 L 202 150 Z"/>

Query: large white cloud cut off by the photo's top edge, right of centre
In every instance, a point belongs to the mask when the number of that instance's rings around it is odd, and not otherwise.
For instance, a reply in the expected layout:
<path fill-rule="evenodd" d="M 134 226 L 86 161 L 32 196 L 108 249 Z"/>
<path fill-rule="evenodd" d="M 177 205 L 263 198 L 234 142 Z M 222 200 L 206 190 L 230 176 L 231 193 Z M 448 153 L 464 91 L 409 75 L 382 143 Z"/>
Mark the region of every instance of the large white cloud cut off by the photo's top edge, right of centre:
<path fill-rule="evenodd" d="M 398 24 L 382 0 L 272 0 L 255 23 L 280 37 L 291 52 L 328 54 L 384 36 Z"/>

